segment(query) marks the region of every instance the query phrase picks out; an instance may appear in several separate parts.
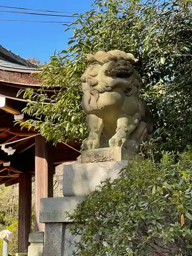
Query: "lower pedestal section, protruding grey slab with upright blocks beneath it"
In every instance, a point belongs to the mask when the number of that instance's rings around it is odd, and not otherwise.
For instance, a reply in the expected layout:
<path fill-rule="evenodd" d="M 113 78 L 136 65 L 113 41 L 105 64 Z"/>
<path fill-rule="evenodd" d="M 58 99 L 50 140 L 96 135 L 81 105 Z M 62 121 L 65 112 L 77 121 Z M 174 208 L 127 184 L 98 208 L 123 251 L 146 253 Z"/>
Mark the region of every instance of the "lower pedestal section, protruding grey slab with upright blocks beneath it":
<path fill-rule="evenodd" d="M 43 256 L 72 256 L 75 250 L 71 243 L 78 242 L 68 227 L 71 221 L 67 212 L 72 212 L 84 197 L 44 198 L 40 201 L 40 222 L 45 224 Z"/>

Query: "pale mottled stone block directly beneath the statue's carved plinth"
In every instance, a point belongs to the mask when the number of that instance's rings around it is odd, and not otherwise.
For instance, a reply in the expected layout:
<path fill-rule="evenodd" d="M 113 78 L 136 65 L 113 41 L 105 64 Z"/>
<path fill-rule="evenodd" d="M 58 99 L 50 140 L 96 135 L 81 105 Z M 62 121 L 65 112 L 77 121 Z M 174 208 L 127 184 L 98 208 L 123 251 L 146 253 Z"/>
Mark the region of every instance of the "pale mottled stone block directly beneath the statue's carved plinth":
<path fill-rule="evenodd" d="M 106 178 L 116 179 L 127 161 L 69 164 L 63 166 L 63 196 L 84 196 Z"/>

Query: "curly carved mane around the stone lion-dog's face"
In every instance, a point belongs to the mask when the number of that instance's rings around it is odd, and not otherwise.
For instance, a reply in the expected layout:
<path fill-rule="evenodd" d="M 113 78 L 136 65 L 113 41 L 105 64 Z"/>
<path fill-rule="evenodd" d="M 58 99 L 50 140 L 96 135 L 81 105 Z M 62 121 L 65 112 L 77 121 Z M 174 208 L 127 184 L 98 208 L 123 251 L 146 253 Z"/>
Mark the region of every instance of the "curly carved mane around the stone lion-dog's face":
<path fill-rule="evenodd" d="M 113 78 L 105 76 L 107 72 L 111 72 L 114 68 L 113 65 L 119 60 L 125 60 L 130 63 L 130 72 L 133 72 L 132 79 L 130 81 L 130 87 L 125 90 L 127 96 L 131 96 L 138 90 L 139 77 L 132 65 L 135 64 L 137 59 L 131 53 L 125 53 L 119 50 L 104 52 L 99 51 L 95 55 L 87 55 L 90 66 L 81 76 L 82 83 L 86 83 L 87 92 L 99 98 L 100 93 L 110 92 L 115 87 L 115 82 L 112 84 L 110 79 Z M 111 66 L 110 66 L 111 63 Z M 108 65 L 109 64 L 109 65 Z M 115 79 L 114 79 L 115 80 Z M 117 80 L 118 82 L 118 80 Z"/>

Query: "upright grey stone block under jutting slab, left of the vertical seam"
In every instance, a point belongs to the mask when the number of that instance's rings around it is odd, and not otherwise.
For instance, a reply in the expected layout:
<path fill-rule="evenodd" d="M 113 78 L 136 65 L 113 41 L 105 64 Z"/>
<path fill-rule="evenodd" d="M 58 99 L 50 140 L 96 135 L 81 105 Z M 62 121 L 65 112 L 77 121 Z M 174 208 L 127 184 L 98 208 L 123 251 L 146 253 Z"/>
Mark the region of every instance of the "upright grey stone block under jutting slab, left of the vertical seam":
<path fill-rule="evenodd" d="M 64 229 L 62 223 L 45 225 L 43 256 L 63 256 Z"/>

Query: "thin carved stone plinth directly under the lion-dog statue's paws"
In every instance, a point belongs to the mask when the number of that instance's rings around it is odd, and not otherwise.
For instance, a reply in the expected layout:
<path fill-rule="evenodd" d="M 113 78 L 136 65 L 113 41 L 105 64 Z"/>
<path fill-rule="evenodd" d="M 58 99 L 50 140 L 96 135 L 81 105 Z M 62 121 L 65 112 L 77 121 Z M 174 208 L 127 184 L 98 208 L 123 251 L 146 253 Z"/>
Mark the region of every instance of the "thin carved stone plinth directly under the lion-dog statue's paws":
<path fill-rule="evenodd" d="M 122 147 L 104 147 L 95 150 L 84 150 L 78 158 L 79 163 L 93 163 L 106 161 L 121 161 L 134 158 L 136 153 L 126 150 Z"/>

